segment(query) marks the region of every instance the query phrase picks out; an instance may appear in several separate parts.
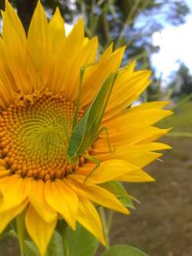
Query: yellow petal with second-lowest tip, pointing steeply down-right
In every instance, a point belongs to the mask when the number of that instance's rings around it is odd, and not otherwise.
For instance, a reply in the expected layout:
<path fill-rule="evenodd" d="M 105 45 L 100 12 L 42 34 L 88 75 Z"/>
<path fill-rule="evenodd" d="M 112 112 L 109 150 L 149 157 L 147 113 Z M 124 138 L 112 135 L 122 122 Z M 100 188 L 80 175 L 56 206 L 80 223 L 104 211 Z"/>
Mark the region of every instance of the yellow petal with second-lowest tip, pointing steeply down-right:
<path fill-rule="evenodd" d="M 98 211 L 90 201 L 80 198 L 78 208 L 78 222 L 88 229 L 105 246 L 103 228 Z"/>

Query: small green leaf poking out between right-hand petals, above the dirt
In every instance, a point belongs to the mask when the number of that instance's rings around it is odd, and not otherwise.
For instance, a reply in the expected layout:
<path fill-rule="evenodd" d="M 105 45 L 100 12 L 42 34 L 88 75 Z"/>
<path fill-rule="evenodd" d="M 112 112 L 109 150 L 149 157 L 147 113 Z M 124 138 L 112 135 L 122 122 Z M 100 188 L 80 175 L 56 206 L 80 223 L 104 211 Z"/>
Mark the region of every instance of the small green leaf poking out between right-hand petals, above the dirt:
<path fill-rule="evenodd" d="M 101 187 L 115 194 L 125 207 L 135 209 L 131 195 L 127 194 L 127 191 L 121 182 L 110 181 L 108 183 L 104 183 Z"/>

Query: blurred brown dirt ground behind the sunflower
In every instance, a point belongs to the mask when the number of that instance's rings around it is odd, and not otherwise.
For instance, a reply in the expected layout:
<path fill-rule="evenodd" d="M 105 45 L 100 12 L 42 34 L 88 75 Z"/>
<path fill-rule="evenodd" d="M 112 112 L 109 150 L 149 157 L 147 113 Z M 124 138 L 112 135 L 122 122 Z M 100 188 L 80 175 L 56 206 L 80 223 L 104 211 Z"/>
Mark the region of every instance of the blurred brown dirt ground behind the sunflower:
<path fill-rule="evenodd" d="M 128 217 L 115 214 L 111 244 L 130 244 L 149 256 L 192 256 L 192 139 L 169 144 L 164 162 L 146 168 L 156 182 L 127 185 L 141 204 Z M 18 255 L 15 241 L 0 241 L 0 256 Z"/>

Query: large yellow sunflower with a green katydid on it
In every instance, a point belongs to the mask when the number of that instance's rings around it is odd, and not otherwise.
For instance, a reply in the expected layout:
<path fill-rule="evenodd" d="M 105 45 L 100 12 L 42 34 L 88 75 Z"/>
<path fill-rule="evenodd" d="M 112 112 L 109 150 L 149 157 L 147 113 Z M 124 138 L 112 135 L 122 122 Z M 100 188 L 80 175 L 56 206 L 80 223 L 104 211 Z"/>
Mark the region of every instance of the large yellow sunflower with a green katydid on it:
<path fill-rule="evenodd" d="M 97 57 L 98 38 L 84 37 L 79 20 L 68 36 L 58 9 L 48 22 L 38 2 L 28 36 L 6 2 L 0 38 L 0 231 L 19 215 L 40 253 L 45 254 L 58 219 L 76 222 L 105 244 L 96 205 L 124 214 L 127 208 L 104 188 L 109 181 L 154 181 L 141 168 L 169 146 L 153 142 L 167 133 L 154 123 L 170 115 L 167 102 L 130 107 L 150 83 L 150 71 L 134 71 L 134 62 L 119 71 L 98 136 L 88 154 L 101 161 L 94 168 L 84 154 L 78 165 L 67 160 L 78 99 L 79 71 L 86 68 L 78 120 L 91 105 L 102 82 L 120 68 L 124 48 L 109 45 Z M 96 61 L 97 59 L 97 61 Z M 65 131 L 65 132 L 62 132 Z"/>

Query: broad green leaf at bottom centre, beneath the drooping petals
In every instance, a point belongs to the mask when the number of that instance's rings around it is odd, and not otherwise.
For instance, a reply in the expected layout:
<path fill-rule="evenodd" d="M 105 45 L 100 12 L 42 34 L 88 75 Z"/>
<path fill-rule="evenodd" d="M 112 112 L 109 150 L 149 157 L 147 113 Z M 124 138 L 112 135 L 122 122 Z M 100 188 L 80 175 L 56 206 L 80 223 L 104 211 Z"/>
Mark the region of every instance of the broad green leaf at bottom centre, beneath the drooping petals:
<path fill-rule="evenodd" d="M 98 240 L 78 224 L 76 231 L 68 228 L 70 256 L 94 256 L 98 251 Z"/>

